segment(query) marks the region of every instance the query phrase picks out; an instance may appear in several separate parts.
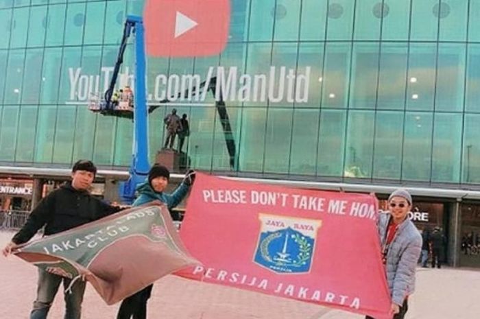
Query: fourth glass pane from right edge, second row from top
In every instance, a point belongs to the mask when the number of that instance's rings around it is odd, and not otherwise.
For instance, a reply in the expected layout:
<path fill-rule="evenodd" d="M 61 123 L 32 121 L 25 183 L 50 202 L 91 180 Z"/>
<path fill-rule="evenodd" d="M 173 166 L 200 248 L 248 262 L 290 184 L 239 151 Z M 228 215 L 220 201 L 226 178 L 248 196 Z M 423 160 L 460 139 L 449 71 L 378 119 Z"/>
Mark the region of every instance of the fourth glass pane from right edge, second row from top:
<path fill-rule="evenodd" d="M 407 43 L 382 43 L 378 109 L 403 110 L 407 85 Z"/>

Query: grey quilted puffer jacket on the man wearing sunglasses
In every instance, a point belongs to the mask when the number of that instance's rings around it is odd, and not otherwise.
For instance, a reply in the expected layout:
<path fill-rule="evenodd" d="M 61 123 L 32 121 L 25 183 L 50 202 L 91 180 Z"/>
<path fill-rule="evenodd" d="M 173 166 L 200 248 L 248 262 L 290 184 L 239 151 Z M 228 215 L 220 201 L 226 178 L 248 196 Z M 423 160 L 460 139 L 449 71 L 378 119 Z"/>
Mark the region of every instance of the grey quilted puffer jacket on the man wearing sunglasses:
<path fill-rule="evenodd" d="M 391 215 L 388 212 L 379 213 L 378 228 L 382 248 L 387 240 L 390 218 Z M 385 265 L 392 302 L 396 305 L 403 305 L 405 297 L 415 290 L 415 272 L 421 251 L 422 235 L 407 217 L 398 226 L 395 237 L 390 243 Z"/>

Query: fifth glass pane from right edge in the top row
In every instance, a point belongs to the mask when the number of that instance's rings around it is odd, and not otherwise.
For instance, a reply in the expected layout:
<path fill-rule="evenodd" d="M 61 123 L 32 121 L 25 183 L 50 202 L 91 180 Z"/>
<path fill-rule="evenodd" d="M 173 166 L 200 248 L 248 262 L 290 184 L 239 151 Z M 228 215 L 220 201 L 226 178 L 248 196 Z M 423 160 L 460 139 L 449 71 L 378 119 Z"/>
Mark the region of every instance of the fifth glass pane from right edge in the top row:
<path fill-rule="evenodd" d="M 383 11 L 382 1 L 357 0 L 357 5 L 355 5 L 354 40 L 379 39 L 380 23 L 385 13 L 387 12 Z"/>

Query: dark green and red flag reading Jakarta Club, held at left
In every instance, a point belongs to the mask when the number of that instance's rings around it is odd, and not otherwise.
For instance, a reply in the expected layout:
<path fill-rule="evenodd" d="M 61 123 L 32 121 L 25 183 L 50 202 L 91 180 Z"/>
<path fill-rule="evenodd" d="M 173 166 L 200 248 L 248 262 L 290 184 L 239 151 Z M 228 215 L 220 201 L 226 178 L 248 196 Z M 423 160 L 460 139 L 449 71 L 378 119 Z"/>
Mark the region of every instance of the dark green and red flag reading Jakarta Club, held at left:
<path fill-rule="evenodd" d="M 167 207 L 160 204 L 33 241 L 15 254 L 47 272 L 90 281 L 112 305 L 162 276 L 198 264 L 178 238 Z"/>

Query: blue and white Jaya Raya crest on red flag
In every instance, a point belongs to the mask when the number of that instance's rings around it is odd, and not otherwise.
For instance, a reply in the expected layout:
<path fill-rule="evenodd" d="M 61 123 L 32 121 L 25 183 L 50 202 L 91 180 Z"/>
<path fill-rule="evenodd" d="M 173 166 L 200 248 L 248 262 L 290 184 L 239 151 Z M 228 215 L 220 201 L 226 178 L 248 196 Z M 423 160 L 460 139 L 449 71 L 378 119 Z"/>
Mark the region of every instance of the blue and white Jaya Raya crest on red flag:
<path fill-rule="evenodd" d="M 309 272 L 321 220 L 259 214 L 254 262 L 278 274 Z"/>

